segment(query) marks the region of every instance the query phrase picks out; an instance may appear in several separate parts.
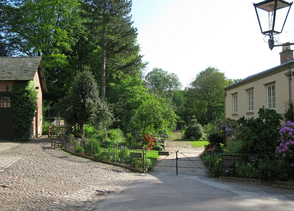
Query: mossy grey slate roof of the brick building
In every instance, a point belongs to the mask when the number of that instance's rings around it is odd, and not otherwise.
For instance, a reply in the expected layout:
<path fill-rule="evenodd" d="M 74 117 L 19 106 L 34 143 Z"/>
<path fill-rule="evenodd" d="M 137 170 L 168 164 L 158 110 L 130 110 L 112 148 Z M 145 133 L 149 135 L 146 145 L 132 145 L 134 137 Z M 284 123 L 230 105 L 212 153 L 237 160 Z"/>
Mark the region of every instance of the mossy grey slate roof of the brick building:
<path fill-rule="evenodd" d="M 30 81 L 38 71 L 42 91 L 47 92 L 42 57 L 0 57 L 0 81 Z"/>

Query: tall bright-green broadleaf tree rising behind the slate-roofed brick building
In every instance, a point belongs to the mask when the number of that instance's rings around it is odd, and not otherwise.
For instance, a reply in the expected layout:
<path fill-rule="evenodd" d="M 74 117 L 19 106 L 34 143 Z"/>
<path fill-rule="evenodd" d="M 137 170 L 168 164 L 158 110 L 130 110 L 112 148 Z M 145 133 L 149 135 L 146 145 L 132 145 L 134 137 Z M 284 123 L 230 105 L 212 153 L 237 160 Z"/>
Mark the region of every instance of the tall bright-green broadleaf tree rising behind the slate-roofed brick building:
<path fill-rule="evenodd" d="M 52 99 L 63 95 L 74 76 L 68 55 L 83 30 L 79 12 L 79 0 L 6 1 L 0 8 L 0 34 L 8 54 L 42 56 L 46 96 Z"/>

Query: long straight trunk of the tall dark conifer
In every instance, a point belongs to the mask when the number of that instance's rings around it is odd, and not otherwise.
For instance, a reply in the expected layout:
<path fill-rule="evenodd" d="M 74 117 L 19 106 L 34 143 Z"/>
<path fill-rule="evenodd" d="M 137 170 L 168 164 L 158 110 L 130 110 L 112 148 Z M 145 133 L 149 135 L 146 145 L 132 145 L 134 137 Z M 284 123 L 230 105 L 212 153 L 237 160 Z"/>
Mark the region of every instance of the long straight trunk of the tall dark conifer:
<path fill-rule="evenodd" d="M 105 101 L 105 33 L 106 33 L 106 0 L 103 7 L 103 30 L 102 30 L 102 62 L 101 62 L 101 98 Z"/>

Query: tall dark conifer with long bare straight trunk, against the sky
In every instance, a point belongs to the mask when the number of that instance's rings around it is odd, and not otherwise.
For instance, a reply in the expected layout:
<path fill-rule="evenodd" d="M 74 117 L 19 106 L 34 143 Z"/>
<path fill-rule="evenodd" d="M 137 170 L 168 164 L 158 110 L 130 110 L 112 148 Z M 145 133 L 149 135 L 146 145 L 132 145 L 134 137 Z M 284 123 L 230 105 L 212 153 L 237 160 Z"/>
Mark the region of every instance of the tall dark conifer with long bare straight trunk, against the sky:
<path fill-rule="evenodd" d="M 88 28 L 101 47 L 101 97 L 106 98 L 106 69 L 123 73 L 138 73 L 142 56 L 133 28 L 132 2 L 128 0 L 90 0 L 84 8 L 89 17 Z"/>

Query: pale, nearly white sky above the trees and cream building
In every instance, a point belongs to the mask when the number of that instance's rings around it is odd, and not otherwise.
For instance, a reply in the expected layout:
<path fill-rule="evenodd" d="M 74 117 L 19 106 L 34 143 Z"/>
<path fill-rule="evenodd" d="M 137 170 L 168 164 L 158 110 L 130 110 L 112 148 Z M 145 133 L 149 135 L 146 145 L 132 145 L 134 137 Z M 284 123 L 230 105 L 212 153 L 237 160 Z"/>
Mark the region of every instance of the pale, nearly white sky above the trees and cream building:
<path fill-rule="evenodd" d="M 145 73 L 162 68 L 186 87 L 207 67 L 243 79 L 280 65 L 282 47 L 270 51 L 260 31 L 253 3 L 261 1 L 132 0 L 140 54 L 149 62 Z M 294 42 L 293 23 L 294 6 L 280 43 Z"/>

